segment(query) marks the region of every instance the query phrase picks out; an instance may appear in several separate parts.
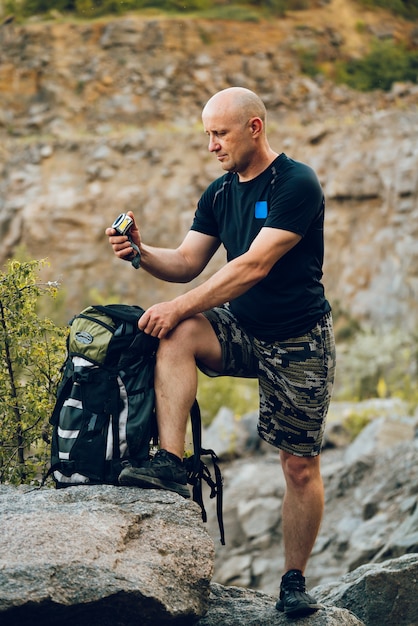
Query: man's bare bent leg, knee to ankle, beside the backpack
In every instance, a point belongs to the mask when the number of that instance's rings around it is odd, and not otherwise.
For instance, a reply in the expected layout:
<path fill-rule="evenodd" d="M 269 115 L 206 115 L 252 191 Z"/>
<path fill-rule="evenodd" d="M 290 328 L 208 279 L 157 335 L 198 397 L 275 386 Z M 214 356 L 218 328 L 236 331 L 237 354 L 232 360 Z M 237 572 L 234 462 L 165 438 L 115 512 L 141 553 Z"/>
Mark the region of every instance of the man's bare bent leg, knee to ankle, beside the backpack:
<path fill-rule="evenodd" d="M 196 359 L 221 368 L 221 346 L 208 320 L 196 315 L 160 341 L 155 396 L 160 447 L 183 458 L 187 419 L 197 392 Z"/>

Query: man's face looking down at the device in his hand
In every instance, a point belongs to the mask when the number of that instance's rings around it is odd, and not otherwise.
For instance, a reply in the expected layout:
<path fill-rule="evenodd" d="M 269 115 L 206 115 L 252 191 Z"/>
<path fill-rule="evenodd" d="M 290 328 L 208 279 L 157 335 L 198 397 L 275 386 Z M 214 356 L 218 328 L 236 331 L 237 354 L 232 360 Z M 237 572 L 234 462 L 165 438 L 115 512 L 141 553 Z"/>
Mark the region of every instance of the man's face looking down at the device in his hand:
<path fill-rule="evenodd" d="M 244 173 L 254 154 L 251 124 L 237 116 L 214 107 L 202 115 L 205 133 L 209 137 L 209 152 L 216 155 L 222 169 Z"/>

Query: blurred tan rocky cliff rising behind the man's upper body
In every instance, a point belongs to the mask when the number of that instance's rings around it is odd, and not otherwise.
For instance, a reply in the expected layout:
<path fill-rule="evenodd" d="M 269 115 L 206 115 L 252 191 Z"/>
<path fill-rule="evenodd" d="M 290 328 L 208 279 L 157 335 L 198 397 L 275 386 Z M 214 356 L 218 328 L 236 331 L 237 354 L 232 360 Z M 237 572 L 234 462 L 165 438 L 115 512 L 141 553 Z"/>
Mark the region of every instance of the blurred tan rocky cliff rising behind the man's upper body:
<path fill-rule="evenodd" d="M 418 87 L 358 94 L 299 72 L 414 25 L 332 0 L 281 20 L 64 20 L 0 29 L 1 261 L 23 244 L 48 257 L 65 319 L 96 300 L 148 306 L 185 286 L 118 262 L 103 235 L 134 210 L 144 240 L 176 245 L 221 172 L 200 111 L 243 85 L 269 109 L 277 151 L 311 164 L 327 196 L 325 283 L 333 304 L 374 325 L 418 321 Z M 361 20 L 362 29 L 358 28 Z M 361 34 L 363 33 L 363 34 Z M 211 271 L 223 262 L 219 254 Z"/>

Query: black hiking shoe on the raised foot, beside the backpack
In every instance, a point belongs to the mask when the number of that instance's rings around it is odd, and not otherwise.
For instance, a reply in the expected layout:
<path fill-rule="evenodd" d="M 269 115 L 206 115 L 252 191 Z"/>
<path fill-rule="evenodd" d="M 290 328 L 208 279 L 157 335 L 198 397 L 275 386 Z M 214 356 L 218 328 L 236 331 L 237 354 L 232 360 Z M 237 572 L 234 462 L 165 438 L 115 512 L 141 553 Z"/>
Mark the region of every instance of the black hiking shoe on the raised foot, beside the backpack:
<path fill-rule="evenodd" d="M 190 498 L 183 461 L 167 450 L 158 450 L 154 458 L 143 467 L 126 467 L 118 480 L 120 485 L 166 489 L 179 493 L 183 498 Z"/>

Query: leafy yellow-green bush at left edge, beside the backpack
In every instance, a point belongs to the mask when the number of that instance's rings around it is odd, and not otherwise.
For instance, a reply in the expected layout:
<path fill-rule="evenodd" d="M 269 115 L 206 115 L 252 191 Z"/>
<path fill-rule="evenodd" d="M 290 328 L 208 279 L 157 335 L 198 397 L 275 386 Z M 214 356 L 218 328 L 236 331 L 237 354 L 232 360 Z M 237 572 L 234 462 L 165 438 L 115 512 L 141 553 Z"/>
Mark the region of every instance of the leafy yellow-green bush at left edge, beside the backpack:
<path fill-rule="evenodd" d="M 37 313 L 54 284 L 37 280 L 44 262 L 10 261 L 0 273 L 0 483 L 39 481 L 49 461 L 66 330 Z"/>

